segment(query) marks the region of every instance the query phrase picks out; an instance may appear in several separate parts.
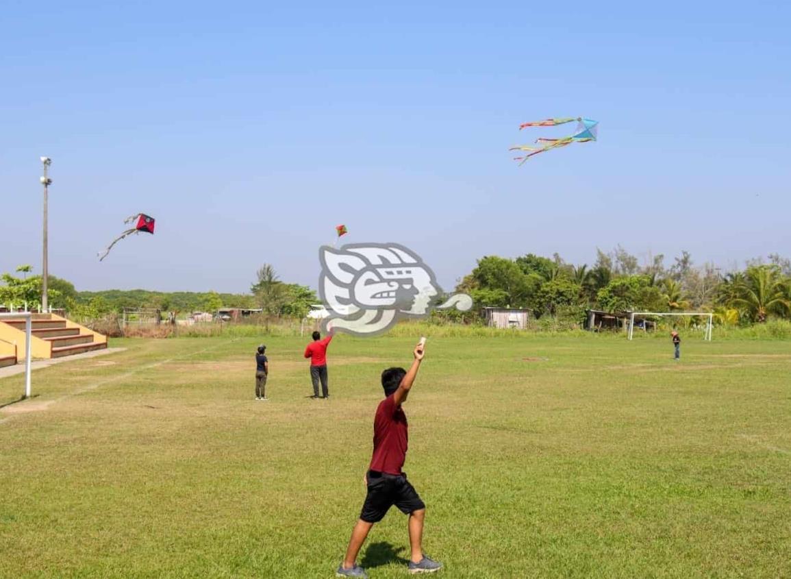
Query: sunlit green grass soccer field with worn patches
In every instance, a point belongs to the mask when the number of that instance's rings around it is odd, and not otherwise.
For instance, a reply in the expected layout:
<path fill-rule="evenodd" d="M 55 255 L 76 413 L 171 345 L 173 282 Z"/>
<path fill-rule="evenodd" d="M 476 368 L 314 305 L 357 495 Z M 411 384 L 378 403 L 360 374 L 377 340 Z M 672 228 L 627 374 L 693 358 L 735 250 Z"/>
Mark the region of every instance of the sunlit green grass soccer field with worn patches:
<path fill-rule="evenodd" d="M 332 577 L 414 340 L 115 340 L 0 409 L 0 576 Z M 405 470 L 447 577 L 791 577 L 791 344 L 430 339 Z M 0 404 L 24 390 L 0 380 Z M 407 574 L 396 509 L 361 552 Z"/>

